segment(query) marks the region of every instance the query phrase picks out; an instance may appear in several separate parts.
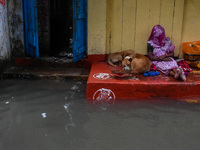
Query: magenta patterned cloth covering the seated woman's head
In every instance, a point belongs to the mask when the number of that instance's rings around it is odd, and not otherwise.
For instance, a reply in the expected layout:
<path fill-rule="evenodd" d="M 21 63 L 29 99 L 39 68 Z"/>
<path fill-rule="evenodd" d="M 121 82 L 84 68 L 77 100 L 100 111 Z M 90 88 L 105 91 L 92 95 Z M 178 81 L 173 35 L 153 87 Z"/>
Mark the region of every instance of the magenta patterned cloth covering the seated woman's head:
<path fill-rule="evenodd" d="M 165 29 L 161 25 L 154 26 L 149 36 L 148 43 L 153 43 L 158 47 L 162 47 L 165 46 L 166 41 Z"/>

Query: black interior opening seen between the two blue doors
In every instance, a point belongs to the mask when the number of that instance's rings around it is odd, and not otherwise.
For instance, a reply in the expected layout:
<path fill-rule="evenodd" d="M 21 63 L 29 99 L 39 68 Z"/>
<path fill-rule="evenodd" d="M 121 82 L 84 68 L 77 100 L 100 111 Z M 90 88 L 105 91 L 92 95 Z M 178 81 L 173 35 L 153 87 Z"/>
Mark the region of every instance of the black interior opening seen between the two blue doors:
<path fill-rule="evenodd" d="M 72 0 L 50 0 L 50 55 L 70 57 L 72 39 Z"/>

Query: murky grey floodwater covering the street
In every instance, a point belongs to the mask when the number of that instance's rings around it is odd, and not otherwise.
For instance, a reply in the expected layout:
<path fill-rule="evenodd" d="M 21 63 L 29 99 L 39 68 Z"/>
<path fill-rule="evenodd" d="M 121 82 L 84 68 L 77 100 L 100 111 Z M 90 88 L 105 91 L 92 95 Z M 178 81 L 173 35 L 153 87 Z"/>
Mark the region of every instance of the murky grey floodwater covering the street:
<path fill-rule="evenodd" d="M 0 150 L 199 150 L 200 105 L 88 102 L 86 80 L 1 80 Z"/>

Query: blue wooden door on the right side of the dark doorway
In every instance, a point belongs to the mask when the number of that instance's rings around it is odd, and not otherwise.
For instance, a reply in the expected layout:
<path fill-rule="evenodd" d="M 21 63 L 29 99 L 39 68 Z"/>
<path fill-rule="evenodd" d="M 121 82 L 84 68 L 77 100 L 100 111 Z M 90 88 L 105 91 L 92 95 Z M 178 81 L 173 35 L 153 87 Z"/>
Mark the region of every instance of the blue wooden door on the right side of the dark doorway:
<path fill-rule="evenodd" d="M 87 0 L 73 0 L 73 60 L 87 54 Z"/>

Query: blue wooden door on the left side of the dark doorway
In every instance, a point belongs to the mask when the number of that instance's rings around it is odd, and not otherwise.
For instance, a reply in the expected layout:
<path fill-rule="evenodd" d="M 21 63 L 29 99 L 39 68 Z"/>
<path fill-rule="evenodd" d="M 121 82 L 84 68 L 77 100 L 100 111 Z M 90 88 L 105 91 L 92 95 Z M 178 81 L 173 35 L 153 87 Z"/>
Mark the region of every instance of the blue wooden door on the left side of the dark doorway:
<path fill-rule="evenodd" d="M 23 0 L 27 56 L 39 58 L 37 0 Z"/>

